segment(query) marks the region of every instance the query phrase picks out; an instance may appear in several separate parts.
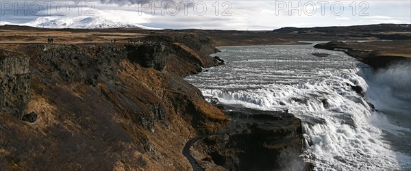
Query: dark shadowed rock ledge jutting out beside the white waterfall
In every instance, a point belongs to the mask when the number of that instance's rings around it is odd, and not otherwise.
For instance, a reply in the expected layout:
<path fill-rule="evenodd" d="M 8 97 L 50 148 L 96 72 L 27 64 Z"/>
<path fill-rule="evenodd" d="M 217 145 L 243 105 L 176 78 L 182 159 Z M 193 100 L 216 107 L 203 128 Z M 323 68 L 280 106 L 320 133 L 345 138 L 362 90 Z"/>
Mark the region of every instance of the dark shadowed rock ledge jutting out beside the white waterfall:
<path fill-rule="evenodd" d="M 227 170 L 306 170 L 301 120 L 282 111 L 225 106 L 232 118 L 226 133 L 201 140 L 206 156 Z M 202 160 L 206 162 L 208 160 Z"/>

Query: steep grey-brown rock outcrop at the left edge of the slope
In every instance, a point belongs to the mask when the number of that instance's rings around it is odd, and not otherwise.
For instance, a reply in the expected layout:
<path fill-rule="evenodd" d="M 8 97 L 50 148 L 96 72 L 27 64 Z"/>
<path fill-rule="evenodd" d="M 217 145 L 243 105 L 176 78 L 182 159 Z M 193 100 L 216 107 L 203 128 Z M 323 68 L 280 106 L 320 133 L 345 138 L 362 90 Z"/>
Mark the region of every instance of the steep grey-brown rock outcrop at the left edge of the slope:
<path fill-rule="evenodd" d="M 0 49 L 0 111 L 21 118 L 29 92 L 29 57 Z"/>

